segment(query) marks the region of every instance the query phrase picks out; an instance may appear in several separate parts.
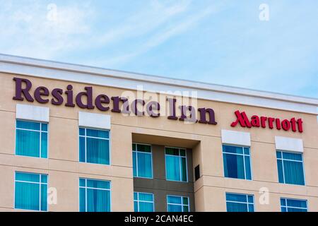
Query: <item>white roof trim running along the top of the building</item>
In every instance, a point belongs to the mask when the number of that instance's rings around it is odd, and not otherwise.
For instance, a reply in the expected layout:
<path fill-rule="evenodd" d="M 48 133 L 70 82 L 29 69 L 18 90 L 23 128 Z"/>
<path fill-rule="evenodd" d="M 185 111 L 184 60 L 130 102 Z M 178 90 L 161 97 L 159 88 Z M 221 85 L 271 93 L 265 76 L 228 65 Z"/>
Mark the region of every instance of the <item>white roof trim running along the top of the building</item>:
<path fill-rule="evenodd" d="M 143 90 L 151 92 L 197 91 L 197 97 L 204 100 L 318 114 L 318 99 L 310 97 L 298 97 L 245 88 L 235 88 L 226 85 L 148 76 L 141 73 L 101 69 L 77 64 L 65 64 L 56 61 L 16 57 L 6 54 L 0 54 L 0 72 L 105 85 L 130 90 L 136 90 L 138 85 L 143 85 Z"/>

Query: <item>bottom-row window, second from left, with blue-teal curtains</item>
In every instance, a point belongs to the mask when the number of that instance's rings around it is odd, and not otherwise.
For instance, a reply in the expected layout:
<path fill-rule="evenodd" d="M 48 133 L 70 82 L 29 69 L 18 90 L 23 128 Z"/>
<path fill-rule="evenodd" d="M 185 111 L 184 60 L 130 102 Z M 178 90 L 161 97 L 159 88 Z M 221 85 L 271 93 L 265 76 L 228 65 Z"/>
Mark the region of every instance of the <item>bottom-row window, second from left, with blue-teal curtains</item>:
<path fill-rule="evenodd" d="M 79 179 L 81 212 L 110 212 L 110 182 Z"/>

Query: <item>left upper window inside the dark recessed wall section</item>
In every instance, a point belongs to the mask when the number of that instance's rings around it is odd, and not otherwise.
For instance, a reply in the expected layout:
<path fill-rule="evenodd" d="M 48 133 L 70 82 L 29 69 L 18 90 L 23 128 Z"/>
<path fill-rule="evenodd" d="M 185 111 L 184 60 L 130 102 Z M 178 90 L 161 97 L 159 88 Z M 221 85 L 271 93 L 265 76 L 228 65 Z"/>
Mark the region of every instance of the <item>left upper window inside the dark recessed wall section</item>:
<path fill-rule="evenodd" d="M 151 145 L 133 143 L 134 177 L 153 178 Z"/>

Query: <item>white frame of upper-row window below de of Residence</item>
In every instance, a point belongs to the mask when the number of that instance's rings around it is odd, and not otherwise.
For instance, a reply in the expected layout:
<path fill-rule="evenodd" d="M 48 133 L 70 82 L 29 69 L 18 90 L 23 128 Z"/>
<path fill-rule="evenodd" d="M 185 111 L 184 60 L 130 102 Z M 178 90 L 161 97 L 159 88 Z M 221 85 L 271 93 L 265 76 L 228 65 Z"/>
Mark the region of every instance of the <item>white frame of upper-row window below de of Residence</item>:
<path fill-rule="evenodd" d="M 80 129 L 84 129 L 85 135 L 80 135 L 80 133 L 79 133 Z M 86 136 L 86 129 L 92 129 L 92 130 L 97 130 L 97 131 L 108 131 L 108 138 L 98 138 L 98 137 L 94 137 L 94 136 Z M 81 162 L 81 160 L 80 160 L 81 159 L 80 137 L 85 138 L 85 162 L 82 162 L 82 163 L 97 164 L 97 165 L 104 165 L 104 166 L 111 166 L 112 165 L 112 146 L 111 146 L 111 131 L 110 131 L 110 129 L 98 129 L 98 128 L 92 128 L 92 127 L 86 127 L 86 126 L 78 126 L 78 162 Z M 110 159 L 109 164 L 87 162 L 87 147 L 86 147 L 87 138 L 95 138 L 95 139 L 108 141 L 109 149 L 110 149 L 108 151 L 108 155 L 109 155 L 109 159 Z"/>

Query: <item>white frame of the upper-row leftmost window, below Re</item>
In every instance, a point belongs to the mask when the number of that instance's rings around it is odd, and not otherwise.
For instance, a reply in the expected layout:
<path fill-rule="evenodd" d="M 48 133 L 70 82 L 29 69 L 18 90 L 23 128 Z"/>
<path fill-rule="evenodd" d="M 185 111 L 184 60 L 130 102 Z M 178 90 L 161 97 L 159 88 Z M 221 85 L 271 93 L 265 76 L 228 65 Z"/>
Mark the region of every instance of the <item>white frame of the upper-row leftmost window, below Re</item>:
<path fill-rule="evenodd" d="M 38 123 L 40 124 L 40 130 L 34 130 L 34 129 L 22 129 L 22 128 L 17 128 L 17 121 L 25 121 L 25 122 L 33 122 L 33 123 Z M 47 125 L 47 131 L 42 131 L 42 124 Z M 30 156 L 30 155 L 19 155 L 16 153 L 16 142 L 17 142 L 17 130 L 23 130 L 23 131 L 34 131 L 34 132 L 39 132 L 40 133 L 40 156 Z M 42 155 L 42 133 L 47 133 L 47 157 L 41 157 Z M 49 159 L 49 122 L 47 121 L 35 121 L 35 120 L 27 120 L 27 119 L 16 119 L 16 124 L 15 124 L 15 130 L 14 130 L 14 155 L 17 156 L 24 156 L 24 157 L 36 157 L 36 158 L 41 158 L 41 159 Z"/>

